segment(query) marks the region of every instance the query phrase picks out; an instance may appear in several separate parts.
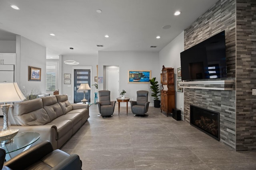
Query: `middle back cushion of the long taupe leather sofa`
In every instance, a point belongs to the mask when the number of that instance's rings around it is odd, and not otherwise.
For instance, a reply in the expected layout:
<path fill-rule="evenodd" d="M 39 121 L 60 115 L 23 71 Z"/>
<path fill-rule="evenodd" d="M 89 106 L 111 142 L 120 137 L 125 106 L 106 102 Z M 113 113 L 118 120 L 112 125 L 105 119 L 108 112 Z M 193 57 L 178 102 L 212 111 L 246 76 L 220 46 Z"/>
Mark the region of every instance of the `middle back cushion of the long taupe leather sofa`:
<path fill-rule="evenodd" d="M 51 121 L 63 115 L 62 108 L 60 104 L 58 104 L 56 96 L 42 97 L 42 102 L 43 102 L 43 107 L 48 113 Z"/>

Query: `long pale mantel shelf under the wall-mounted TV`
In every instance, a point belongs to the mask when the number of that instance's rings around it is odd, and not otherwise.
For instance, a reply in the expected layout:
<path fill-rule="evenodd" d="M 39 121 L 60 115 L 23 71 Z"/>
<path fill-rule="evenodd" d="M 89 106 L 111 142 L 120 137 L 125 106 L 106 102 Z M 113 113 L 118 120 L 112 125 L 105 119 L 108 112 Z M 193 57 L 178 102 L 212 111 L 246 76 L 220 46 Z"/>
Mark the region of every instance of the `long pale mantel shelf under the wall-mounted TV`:
<path fill-rule="evenodd" d="M 208 89 L 208 90 L 233 90 L 234 80 L 188 81 L 178 82 L 182 88 Z"/>

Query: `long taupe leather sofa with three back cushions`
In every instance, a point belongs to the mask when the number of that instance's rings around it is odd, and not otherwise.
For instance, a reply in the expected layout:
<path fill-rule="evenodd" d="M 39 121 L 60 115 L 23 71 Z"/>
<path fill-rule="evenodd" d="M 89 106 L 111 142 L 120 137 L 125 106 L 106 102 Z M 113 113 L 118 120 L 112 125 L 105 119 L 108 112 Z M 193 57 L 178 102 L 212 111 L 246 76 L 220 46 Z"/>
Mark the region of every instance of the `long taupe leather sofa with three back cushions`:
<path fill-rule="evenodd" d="M 40 133 L 59 149 L 86 122 L 87 104 L 70 104 L 67 95 L 46 96 L 16 103 L 8 112 L 10 128 Z"/>

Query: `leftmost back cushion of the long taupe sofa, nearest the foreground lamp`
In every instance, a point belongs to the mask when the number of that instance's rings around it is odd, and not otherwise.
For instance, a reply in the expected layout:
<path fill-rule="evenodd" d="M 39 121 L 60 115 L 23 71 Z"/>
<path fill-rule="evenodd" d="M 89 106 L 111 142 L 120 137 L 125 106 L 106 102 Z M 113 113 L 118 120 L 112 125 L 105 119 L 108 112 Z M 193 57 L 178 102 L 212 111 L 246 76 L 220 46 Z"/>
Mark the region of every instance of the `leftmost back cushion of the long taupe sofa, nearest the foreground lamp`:
<path fill-rule="evenodd" d="M 34 99 L 13 105 L 13 118 L 17 125 L 45 125 L 50 117 L 43 108 L 42 99 Z"/>

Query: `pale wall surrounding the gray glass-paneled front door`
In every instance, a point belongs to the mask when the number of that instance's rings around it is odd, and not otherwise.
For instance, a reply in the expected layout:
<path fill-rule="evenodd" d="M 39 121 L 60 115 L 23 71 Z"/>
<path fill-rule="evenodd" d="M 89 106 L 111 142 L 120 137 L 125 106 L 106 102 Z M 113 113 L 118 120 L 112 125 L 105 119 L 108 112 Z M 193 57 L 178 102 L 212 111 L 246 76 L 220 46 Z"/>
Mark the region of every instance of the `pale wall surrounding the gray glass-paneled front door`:
<path fill-rule="evenodd" d="M 98 64 L 98 56 L 97 55 L 81 55 L 81 56 L 73 56 L 73 55 L 62 55 L 60 56 L 60 60 L 62 60 L 62 75 L 59 75 L 61 78 L 61 94 L 67 94 L 68 100 L 70 103 L 74 103 L 74 69 L 90 69 L 91 70 L 91 102 L 94 102 L 94 92 L 95 86 L 94 84 L 94 76 L 97 76 L 97 64 Z M 63 62 L 66 60 L 75 60 L 79 62 L 77 65 L 64 64 Z M 71 74 L 71 84 L 64 84 L 64 74 Z M 59 79 L 60 80 L 60 79 Z"/>

